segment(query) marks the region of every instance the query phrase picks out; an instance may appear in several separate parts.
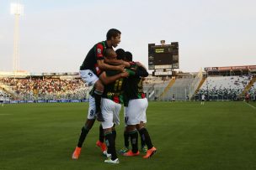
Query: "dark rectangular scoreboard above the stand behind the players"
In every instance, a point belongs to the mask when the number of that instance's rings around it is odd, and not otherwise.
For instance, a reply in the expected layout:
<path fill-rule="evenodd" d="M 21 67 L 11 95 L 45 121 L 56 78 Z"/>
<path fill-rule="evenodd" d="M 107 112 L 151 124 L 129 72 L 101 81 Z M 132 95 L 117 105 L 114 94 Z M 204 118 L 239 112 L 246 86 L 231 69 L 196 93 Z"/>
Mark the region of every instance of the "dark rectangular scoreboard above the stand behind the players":
<path fill-rule="evenodd" d="M 148 69 L 179 69 L 179 43 L 155 45 L 148 44 Z"/>

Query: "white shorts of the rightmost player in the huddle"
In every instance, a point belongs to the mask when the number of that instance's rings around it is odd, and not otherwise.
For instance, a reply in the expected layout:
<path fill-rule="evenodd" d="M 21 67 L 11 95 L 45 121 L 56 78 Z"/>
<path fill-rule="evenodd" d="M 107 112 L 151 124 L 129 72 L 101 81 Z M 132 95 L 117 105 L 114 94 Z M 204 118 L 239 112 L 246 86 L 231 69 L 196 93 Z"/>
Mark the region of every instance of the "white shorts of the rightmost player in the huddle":
<path fill-rule="evenodd" d="M 140 124 L 141 121 L 146 123 L 147 106 L 147 98 L 129 100 L 128 107 L 125 107 L 124 109 L 125 126 L 137 125 Z"/>

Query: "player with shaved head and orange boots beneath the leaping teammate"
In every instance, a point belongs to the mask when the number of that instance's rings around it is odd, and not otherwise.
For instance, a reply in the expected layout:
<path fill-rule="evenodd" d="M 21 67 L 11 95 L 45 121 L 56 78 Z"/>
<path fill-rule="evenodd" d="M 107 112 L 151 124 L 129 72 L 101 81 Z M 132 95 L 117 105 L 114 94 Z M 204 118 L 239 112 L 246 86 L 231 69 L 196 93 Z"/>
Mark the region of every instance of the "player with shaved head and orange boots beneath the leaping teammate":
<path fill-rule="evenodd" d="M 115 51 L 114 52 L 113 51 L 114 51 L 113 49 L 106 49 L 105 56 L 107 59 L 116 57 Z M 125 78 L 127 76 L 128 76 L 127 72 L 121 72 L 119 74 L 107 77 L 106 72 L 104 71 L 101 73 L 101 75 L 99 75 L 99 80 L 101 80 L 104 83 L 104 85 L 108 85 L 109 83 L 114 82 L 115 80 L 118 80 L 120 78 Z M 77 142 L 77 147 L 75 151 L 72 153 L 72 159 L 78 159 L 81 153 L 83 142 L 85 141 L 85 138 L 87 137 L 88 132 L 93 127 L 93 124 L 95 122 L 96 107 L 95 107 L 95 100 L 92 95 L 93 94 L 89 95 L 88 119 L 85 122 L 85 125 L 81 129 L 81 134 Z M 101 148 L 104 155 L 106 155 L 107 157 L 109 156 L 106 152 L 106 146 L 104 144 L 104 131 L 102 126 L 99 126 L 99 141 L 96 142 L 96 145 Z"/>

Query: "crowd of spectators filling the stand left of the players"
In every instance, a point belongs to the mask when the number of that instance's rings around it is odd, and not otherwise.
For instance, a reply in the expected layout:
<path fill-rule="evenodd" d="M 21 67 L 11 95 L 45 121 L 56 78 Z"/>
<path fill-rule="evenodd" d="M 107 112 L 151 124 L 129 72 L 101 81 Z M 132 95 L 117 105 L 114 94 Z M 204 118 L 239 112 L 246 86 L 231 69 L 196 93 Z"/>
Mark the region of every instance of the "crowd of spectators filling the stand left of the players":
<path fill-rule="evenodd" d="M 81 79 L 0 79 L 23 100 L 82 100 L 87 96 L 88 86 Z"/>

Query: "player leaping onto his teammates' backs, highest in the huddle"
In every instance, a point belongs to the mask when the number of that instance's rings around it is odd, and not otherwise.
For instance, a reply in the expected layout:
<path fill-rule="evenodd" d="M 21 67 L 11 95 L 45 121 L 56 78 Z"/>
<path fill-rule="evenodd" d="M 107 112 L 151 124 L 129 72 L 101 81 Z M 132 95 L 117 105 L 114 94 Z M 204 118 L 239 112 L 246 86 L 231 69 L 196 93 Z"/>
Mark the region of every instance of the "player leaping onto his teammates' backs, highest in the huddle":
<path fill-rule="evenodd" d="M 83 64 L 80 66 L 80 75 L 82 79 L 88 83 L 88 85 L 94 85 L 95 90 L 93 91 L 95 106 L 96 106 L 96 115 L 98 121 L 104 121 L 103 116 L 100 110 L 101 96 L 104 91 L 104 85 L 101 80 L 99 80 L 99 74 L 102 70 L 117 70 L 124 71 L 125 66 L 129 66 L 129 63 L 124 61 L 112 61 L 110 65 L 109 59 L 104 59 L 105 49 L 113 49 L 120 44 L 120 35 L 121 32 L 118 29 L 111 28 L 109 29 L 106 38 L 106 41 L 95 44 L 92 49 L 89 50 L 87 56 L 83 60 Z"/>

